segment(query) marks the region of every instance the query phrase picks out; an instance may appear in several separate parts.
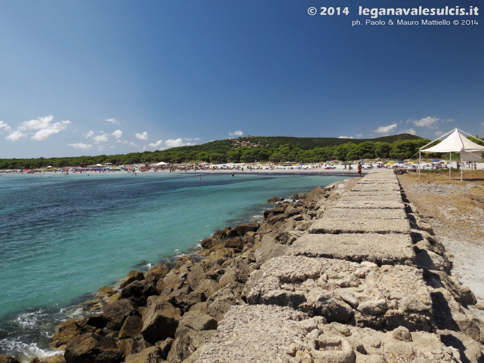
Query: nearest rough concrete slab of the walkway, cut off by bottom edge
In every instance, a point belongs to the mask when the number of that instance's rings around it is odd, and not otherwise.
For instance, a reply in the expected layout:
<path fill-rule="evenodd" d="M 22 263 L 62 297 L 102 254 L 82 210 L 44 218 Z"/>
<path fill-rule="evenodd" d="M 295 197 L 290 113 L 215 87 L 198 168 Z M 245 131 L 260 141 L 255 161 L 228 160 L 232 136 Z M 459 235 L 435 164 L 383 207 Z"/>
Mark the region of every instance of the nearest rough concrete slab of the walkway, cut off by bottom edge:
<path fill-rule="evenodd" d="M 438 336 L 411 332 L 410 341 L 392 332 L 326 324 L 321 317 L 277 306 L 238 306 L 226 315 L 211 343 L 184 363 L 360 363 L 456 362 L 457 349 Z M 416 360 L 415 360 L 416 359 Z"/>

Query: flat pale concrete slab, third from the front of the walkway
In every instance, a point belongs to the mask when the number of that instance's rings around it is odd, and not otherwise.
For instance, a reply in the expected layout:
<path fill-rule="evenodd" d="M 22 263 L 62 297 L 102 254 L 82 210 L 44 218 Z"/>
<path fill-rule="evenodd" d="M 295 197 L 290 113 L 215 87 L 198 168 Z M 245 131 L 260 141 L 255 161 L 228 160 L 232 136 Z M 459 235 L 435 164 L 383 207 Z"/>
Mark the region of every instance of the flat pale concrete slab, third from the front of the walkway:
<path fill-rule="evenodd" d="M 378 265 L 413 265 L 415 252 L 406 234 L 304 234 L 289 249 L 290 255 L 325 257 Z"/>

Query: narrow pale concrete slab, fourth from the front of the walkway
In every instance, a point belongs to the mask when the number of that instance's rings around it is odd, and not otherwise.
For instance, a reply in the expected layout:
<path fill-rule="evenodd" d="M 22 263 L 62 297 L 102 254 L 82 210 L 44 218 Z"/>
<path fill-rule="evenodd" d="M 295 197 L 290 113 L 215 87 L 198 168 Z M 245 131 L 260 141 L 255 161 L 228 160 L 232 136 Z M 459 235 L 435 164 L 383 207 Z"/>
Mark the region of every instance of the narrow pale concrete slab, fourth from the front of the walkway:
<path fill-rule="evenodd" d="M 315 221 L 310 233 L 406 233 L 410 234 L 410 223 L 406 219 L 377 220 L 324 217 Z"/>

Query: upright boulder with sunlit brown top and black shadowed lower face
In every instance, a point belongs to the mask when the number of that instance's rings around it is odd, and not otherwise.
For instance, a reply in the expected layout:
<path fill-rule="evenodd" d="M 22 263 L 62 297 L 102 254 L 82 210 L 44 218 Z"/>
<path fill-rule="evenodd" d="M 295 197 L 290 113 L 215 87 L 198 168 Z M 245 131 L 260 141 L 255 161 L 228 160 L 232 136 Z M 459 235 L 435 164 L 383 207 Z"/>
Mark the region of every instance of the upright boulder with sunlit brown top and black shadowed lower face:
<path fill-rule="evenodd" d="M 163 296 L 148 298 L 143 312 L 143 338 L 150 343 L 173 337 L 181 318 L 181 311 L 175 308 Z"/>

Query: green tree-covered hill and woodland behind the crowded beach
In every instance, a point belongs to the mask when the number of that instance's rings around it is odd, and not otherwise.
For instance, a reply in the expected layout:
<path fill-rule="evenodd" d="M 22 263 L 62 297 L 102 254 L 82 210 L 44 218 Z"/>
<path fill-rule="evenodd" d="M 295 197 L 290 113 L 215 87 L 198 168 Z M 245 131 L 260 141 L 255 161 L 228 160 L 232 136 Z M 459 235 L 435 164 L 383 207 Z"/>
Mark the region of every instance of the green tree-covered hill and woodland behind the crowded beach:
<path fill-rule="evenodd" d="M 201 145 L 117 155 L 76 156 L 35 159 L 0 159 L 0 169 L 77 166 L 81 163 L 169 163 L 192 162 L 321 162 L 331 159 L 408 158 L 429 143 L 410 134 L 375 139 L 297 138 L 285 136 L 247 136 L 216 140 Z"/>

